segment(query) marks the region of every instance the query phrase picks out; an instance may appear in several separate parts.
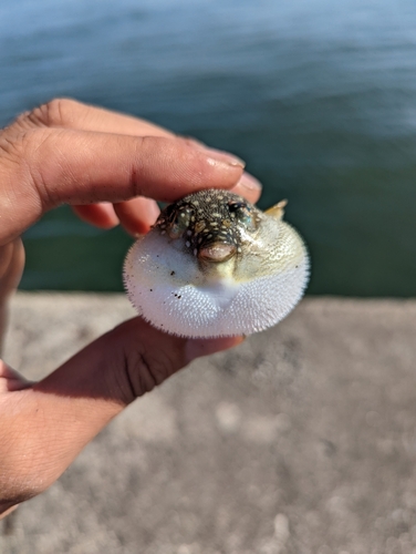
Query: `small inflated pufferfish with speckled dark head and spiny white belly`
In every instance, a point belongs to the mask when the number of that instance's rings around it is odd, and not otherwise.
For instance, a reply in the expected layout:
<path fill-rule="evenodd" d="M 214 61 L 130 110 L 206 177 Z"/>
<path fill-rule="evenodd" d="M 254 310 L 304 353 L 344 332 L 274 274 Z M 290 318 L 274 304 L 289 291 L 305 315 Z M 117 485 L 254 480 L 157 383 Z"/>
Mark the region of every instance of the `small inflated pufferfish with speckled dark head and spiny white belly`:
<path fill-rule="evenodd" d="M 309 258 L 283 222 L 241 196 L 200 191 L 168 205 L 124 264 L 127 295 L 154 327 L 183 337 L 250 335 L 300 300 Z"/>

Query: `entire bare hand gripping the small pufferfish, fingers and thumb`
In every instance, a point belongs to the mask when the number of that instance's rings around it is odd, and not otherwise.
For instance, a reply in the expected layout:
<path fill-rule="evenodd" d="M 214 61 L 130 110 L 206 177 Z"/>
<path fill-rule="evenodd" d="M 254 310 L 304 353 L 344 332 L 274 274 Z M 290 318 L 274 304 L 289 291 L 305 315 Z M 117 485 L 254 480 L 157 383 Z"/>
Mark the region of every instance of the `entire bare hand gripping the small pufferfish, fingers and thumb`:
<path fill-rule="evenodd" d="M 202 188 L 260 196 L 238 158 L 146 121 L 66 99 L 22 114 L 0 131 L 0 336 L 24 265 L 20 236 L 42 214 L 66 203 L 92 225 L 138 235 L 158 215 L 155 199 Z M 39 382 L 0 360 L 0 514 L 50 486 L 137 397 L 241 340 L 174 337 L 137 317 Z"/>

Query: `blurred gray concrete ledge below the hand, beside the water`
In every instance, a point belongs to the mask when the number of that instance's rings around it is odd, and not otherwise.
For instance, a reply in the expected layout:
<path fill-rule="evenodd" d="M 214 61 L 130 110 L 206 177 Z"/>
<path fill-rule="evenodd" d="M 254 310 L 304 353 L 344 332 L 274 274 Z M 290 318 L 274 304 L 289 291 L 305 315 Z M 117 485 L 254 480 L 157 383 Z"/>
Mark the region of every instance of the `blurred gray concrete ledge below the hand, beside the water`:
<path fill-rule="evenodd" d="M 39 378 L 131 314 L 122 296 L 19 295 L 4 358 Z M 415 301 L 303 301 L 136 401 L 0 552 L 416 552 L 415 336 Z"/>

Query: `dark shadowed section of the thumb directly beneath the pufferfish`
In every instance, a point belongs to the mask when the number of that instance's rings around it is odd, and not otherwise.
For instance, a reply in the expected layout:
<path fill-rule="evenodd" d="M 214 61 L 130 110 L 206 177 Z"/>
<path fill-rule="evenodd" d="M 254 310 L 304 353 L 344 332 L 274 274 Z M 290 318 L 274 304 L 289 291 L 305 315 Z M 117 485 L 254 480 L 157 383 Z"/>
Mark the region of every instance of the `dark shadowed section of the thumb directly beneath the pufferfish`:
<path fill-rule="evenodd" d="M 102 399 L 124 408 L 194 359 L 232 348 L 242 340 L 242 337 L 177 337 L 136 317 L 96 339 L 34 389 L 56 396 Z"/>

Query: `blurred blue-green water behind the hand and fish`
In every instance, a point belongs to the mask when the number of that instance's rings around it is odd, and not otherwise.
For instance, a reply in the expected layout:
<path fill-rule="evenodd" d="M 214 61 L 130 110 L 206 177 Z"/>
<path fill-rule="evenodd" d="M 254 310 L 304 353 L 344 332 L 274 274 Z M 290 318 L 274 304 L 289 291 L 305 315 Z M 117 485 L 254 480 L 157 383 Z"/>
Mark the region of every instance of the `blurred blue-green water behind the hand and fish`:
<path fill-rule="evenodd" d="M 416 295 L 412 0 L 2 0 L 0 124 L 54 96 L 235 152 L 312 256 L 309 294 Z M 131 244 L 62 207 L 25 289 L 122 290 Z"/>

